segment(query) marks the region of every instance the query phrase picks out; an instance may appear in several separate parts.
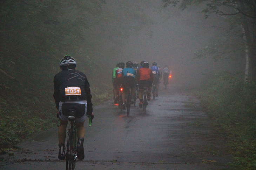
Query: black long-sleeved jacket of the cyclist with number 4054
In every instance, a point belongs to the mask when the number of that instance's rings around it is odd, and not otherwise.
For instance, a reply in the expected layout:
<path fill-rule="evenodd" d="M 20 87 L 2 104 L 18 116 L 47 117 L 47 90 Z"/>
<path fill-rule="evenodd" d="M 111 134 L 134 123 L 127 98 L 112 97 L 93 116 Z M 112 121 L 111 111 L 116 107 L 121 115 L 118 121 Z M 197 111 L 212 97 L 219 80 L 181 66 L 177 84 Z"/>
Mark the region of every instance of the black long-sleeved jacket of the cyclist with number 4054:
<path fill-rule="evenodd" d="M 54 94 L 56 108 L 59 109 L 60 101 L 76 101 L 87 100 L 87 114 L 90 115 L 93 112 L 92 108 L 92 95 L 90 94 L 90 84 L 86 78 L 86 75 L 75 69 L 63 70 L 56 74 L 53 79 Z M 65 88 L 67 87 L 80 87 L 81 95 L 69 95 L 66 96 Z"/>

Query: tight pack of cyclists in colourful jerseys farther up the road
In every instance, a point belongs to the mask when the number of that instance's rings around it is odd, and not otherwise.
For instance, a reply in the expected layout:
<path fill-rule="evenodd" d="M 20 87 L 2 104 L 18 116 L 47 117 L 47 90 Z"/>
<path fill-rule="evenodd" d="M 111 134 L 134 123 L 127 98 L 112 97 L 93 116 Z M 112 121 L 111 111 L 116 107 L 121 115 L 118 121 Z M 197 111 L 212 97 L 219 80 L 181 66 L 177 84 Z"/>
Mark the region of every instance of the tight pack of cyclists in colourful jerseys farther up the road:
<path fill-rule="evenodd" d="M 152 63 L 151 68 L 149 68 L 149 63 L 147 61 L 141 61 L 141 66 L 138 67 L 137 62 L 128 61 L 126 64 L 124 62 L 119 62 L 112 72 L 112 83 L 113 83 L 113 99 L 114 103 L 118 102 L 118 98 L 122 97 L 122 107 L 125 108 L 124 96 L 126 96 L 126 87 L 130 88 L 133 104 L 136 101 L 137 96 L 135 92 L 137 90 L 140 103 L 139 107 L 142 108 L 142 97 L 143 88 L 147 87 L 147 100 L 150 101 L 151 96 L 151 86 L 154 84 L 156 87 L 156 97 L 158 96 L 158 89 L 160 79 L 162 77 L 162 71 L 160 66 L 157 66 L 156 62 Z M 124 68 L 126 66 L 126 68 Z M 120 88 L 124 89 L 123 95 L 118 96 Z"/>

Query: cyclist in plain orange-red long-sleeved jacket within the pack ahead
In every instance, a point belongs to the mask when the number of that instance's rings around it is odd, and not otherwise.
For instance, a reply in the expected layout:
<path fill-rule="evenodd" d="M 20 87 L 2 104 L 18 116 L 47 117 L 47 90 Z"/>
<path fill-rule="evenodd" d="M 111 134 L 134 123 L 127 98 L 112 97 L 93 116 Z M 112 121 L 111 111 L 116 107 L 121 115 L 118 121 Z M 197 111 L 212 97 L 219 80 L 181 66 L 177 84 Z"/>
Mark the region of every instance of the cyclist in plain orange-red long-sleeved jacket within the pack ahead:
<path fill-rule="evenodd" d="M 140 98 L 140 103 L 139 103 L 140 108 L 142 108 L 143 87 L 148 88 L 147 96 L 148 96 L 148 101 L 150 101 L 151 86 L 154 80 L 154 76 L 151 69 L 149 69 L 148 67 L 149 67 L 148 62 L 144 61 L 142 64 L 142 68 L 140 68 L 137 73 L 137 80 L 139 83 L 138 93 Z"/>

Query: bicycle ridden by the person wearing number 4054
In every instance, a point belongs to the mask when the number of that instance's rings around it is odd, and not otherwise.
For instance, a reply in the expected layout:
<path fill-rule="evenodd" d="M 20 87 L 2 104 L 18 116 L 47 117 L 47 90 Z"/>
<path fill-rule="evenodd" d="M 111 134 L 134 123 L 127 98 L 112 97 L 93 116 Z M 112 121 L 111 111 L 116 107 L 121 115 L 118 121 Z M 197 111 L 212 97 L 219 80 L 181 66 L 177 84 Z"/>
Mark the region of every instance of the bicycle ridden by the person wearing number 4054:
<path fill-rule="evenodd" d="M 78 144 L 78 135 L 75 126 L 75 113 L 76 110 L 69 109 L 68 120 L 70 122 L 67 133 L 67 145 L 66 145 L 66 170 L 75 170 L 75 162 L 77 158 L 77 144 Z M 89 117 L 89 127 L 92 124 L 92 119 Z"/>

